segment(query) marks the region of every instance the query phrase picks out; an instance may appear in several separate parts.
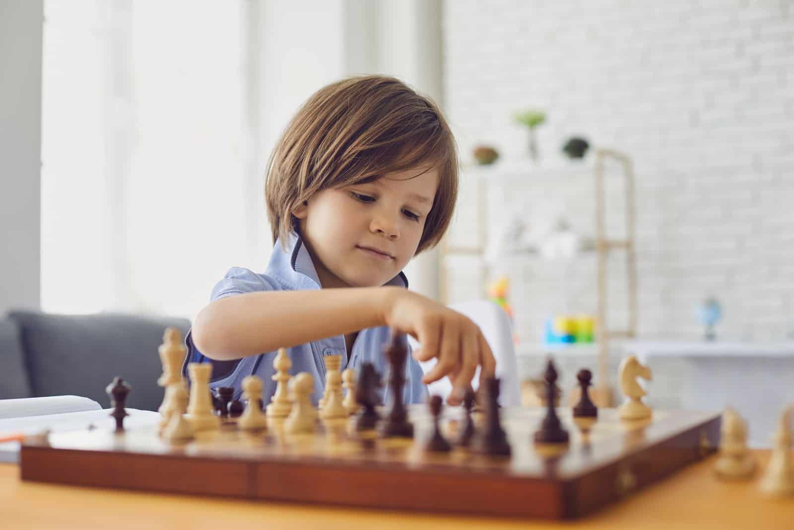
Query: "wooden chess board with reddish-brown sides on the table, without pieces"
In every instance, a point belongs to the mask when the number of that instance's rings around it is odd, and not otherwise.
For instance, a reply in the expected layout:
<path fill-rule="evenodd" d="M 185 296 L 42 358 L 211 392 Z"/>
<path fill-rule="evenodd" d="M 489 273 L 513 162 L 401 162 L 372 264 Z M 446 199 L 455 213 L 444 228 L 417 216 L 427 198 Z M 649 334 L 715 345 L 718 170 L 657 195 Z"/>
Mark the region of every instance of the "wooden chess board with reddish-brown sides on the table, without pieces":
<path fill-rule="evenodd" d="M 446 409 L 443 431 L 454 440 L 461 413 Z M 378 509 L 569 519 L 664 478 L 709 454 L 719 414 L 654 411 L 645 421 L 559 415 L 566 445 L 534 444 L 543 409 L 502 409 L 511 457 L 463 448 L 424 450 L 432 433 L 425 406 L 410 408 L 414 440 L 360 435 L 347 420 L 318 424 L 310 435 L 285 435 L 271 421 L 245 432 L 226 421 L 217 432 L 169 444 L 155 428 L 98 428 L 25 440 L 21 478 L 71 485 L 322 503 Z M 482 421 L 479 416 L 475 421 Z"/>

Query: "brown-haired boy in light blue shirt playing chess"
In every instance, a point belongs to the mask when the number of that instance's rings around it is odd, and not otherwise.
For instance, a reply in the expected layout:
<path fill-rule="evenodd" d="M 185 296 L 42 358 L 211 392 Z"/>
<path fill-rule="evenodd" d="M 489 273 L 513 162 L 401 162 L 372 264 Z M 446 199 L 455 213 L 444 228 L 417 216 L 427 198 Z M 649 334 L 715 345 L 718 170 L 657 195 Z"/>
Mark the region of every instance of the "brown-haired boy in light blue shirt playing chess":
<path fill-rule="evenodd" d="M 380 75 L 318 90 L 273 150 L 265 183 L 275 247 L 264 275 L 231 269 L 187 336 L 187 362 L 214 364 L 211 387 L 241 394 L 246 375 L 275 392 L 272 361 L 290 348 L 291 373 L 325 385 L 324 355 L 341 369 L 387 371 L 388 328 L 421 344 L 406 367 L 403 401 L 424 401 L 424 384 L 449 376 L 458 405 L 481 367 L 493 376 L 488 343 L 472 321 L 407 290 L 402 269 L 441 240 L 457 198 L 457 154 L 449 126 L 427 98 Z M 268 352 L 268 353 L 263 353 Z M 418 361 L 437 357 L 422 375 Z"/>

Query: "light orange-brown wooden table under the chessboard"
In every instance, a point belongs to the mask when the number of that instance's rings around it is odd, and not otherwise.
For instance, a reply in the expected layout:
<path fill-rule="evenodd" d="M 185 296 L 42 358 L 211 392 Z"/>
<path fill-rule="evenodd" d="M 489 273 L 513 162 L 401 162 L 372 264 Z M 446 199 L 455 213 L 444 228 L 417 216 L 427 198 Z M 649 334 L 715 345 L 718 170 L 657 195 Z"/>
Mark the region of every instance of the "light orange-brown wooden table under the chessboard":
<path fill-rule="evenodd" d="M 769 454 L 757 451 L 765 466 Z M 725 483 L 712 474 L 714 457 L 638 492 L 592 517 L 568 523 L 395 513 L 184 497 L 21 482 L 13 464 L 0 464 L 2 528 L 794 528 L 794 497 L 771 500 L 757 481 Z M 244 526 L 245 524 L 245 526 Z"/>

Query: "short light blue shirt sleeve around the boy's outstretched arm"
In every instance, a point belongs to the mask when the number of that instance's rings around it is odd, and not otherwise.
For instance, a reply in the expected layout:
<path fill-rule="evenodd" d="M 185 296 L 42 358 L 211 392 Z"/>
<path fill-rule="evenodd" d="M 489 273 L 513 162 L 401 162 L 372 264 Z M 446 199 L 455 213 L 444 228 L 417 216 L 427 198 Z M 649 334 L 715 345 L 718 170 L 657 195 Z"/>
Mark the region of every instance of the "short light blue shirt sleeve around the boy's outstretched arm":
<path fill-rule="evenodd" d="M 232 267 L 226 272 L 223 279 L 216 283 L 213 287 L 212 294 L 210 294 L 210 301 L 218 300 L 219 298 L 226 298 L 235 294 L 256 293 L 260 291 L 276 290 L 275 282 L 271 278 L 264 275 L 257 275 L 255 272 L 249 271 L 244 267 Z M 241 359 L 233 359 L 229 361 L 216 361 L 202 355 L 193 343 L 193 329 L 187 332 L 185 336 L 185 347 L 187 348 L 187 355 L 182 363 L 182 375 L 187 378 L 187 364 L 188 363 L 212 363 L 212 378 L 210 382 L 218 381 L 231 374 Z"/>

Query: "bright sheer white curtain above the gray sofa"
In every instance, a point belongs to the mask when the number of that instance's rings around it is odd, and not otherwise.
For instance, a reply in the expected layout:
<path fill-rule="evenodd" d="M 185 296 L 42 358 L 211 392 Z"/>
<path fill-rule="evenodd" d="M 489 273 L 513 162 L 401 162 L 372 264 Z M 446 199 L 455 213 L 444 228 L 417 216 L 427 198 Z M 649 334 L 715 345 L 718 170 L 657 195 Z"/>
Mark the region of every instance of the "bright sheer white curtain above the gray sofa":
<path fill-rule="evenodd" d="M 226 269 L 264 269 L 247 9 L 45 2 L 45 311 L 194 317 Z"/>

